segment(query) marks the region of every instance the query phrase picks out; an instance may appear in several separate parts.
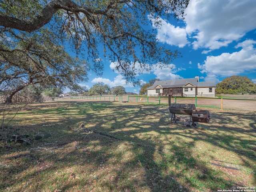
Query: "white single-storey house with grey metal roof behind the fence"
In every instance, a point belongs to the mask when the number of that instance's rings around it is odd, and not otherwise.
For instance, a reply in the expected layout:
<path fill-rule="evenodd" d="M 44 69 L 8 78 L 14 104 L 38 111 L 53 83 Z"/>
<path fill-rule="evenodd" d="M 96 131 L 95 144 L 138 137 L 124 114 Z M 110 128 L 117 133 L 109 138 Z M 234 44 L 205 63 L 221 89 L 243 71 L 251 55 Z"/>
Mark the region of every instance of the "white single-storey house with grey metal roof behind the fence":
<path fill-rule="evenodd" d="M 156 81 L 147 88 L 148 96 L 215 97 L 215 81 L 199 82 L 199 76 L 188 79 Z"/>

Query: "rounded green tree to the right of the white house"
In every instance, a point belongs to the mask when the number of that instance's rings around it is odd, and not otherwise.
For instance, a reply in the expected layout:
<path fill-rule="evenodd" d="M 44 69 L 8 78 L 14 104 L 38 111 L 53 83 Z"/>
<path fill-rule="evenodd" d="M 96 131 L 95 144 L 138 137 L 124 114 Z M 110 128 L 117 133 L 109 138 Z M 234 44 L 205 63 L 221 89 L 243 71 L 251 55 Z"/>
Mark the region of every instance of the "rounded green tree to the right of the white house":
<path fill-rule="evenodd" d="M 256 84 L 246 76 L 231 76 L 216 85 L 216 94 L 255 94 Z"/>

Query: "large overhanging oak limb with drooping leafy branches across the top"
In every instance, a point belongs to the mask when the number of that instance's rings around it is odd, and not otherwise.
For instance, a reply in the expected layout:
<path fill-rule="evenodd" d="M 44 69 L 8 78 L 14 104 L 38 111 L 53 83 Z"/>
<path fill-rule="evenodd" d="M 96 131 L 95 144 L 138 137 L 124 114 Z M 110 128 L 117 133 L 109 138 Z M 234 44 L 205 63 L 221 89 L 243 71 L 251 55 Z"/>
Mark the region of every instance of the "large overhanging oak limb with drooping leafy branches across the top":
<path fill-rule="evenodd" d="M 1 0 L 0 34 L 10 38 L 16 32 L 40 34 L 42 27 L 57 35 L 54 41 L 71 41 L 80 56 L 94 62 L 94 71 L 101 74 L 99 53 L 118 61 L 116 70 L 126 81 L 139 84 L 135 64 L 142 70 L 159 63 L 167 67 L 180 54 L 159 46 L 156 31 L 145 27 L 159 16 L 183 18 L 189 0 Z M 150 19 L 149 19 L 150 18 Z M 14 30 L 15 29 L 15 30 Z M 149 29 L 149 30 L 145 30 Z M 19 35 L 19 34 L 18 34 Z M 12 40 L 10 40 L 12 41 Z M 15 41 L 15 40 L 14 40 Z M 11 47 L 7 47 L 11 49 Z M 132 60 L 132 64 L 131 64 Z"/>

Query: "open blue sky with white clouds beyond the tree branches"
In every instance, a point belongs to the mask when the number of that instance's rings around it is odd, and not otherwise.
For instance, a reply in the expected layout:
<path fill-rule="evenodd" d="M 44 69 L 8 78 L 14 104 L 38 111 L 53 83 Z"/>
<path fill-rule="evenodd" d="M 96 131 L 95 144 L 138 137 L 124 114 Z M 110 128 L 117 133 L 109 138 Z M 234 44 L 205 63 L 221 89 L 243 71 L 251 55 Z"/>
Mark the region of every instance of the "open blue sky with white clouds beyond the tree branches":
<path fill-rule="evenodd" d="M 217 84 L 232 75 L 247 76 L 256 83 L 256 0 L 190 0 L 185 12 L 184 21 L 160 18 L 162 27 L 157 29 L 159 43 L 171 50 L 178 49 L 182 58 L 169 64 L 172 69 L 161 70 L 156 65 L 150 73 L 138 75 L 142 84 L 154 78 L 195 76 L 200 81 L 214 80 Z M 152 28 L 155 28 L 153 24 Z M 90 88 L 103 82 L 139 93 L 140 86 L 126 84 L 113 71 L 116 61 L 102 60 L 103 75 L 90 72 L 88 82 L 82 85 Z"/>

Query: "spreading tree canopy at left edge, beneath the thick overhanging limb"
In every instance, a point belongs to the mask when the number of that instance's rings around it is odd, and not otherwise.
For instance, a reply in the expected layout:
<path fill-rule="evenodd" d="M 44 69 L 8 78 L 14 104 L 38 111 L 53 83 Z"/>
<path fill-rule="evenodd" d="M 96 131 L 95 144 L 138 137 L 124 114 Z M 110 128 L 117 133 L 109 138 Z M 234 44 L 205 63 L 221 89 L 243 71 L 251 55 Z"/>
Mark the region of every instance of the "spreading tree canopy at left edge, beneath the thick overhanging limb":
<path fill-rule="evenodd" d="M 41 28 L 40 35 L 10 30 L 8 37 L 0 33 L 0 89 L 6 103 L 29 85 L 79 90 L 78 83 L 87 80 L 86 61 L 66 53 L 49 30 Z"/>

